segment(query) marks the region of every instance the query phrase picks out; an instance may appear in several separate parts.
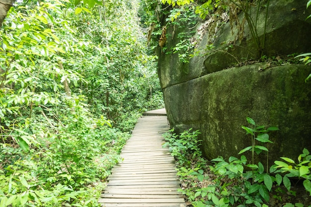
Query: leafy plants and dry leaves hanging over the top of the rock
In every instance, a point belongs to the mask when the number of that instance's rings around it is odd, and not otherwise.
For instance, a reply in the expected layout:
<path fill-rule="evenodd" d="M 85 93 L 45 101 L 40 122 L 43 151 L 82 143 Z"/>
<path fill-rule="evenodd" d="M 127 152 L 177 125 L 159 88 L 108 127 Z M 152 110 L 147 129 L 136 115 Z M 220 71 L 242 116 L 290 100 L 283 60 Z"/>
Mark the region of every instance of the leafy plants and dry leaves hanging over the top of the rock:
<path fill-rule="evenodd" d="M 233 25 L 237 27 L 237 33 L 235 34 L 236 37 L 233 42 L 242 40 L 244 28 L 247 23 L 251 37 L 255 43 L 254 45 L 257 49 L 257 52 L 253 52 L 254 55 L 256 55 L 258 59 L 264 56 L 269 0 L 161 0 L 160 2 L 163 4 L 163 8 L 158 9 L 159 6 L 156 7 L 156 11 L 158 11 L 159 14 L 156 15 L 157 21 L 156 19 L 153 20 L 154 25 L 160 23 L 165 26 L 171 26 L 172 32 L 171 34 L 167 34 L 167 37 L 171 35 L 173 39 L 174 36 L 177 36 L 179 41 L 171 48 L 164 47 L 163 52 L 165 51 L 166 54 L 178 53 L 178 57 L 182 63 L 188 63 L 190 58 L 199 54 L 195 49 L 198 42 L 201 41 L 200 33 L 204 33 L 204 31 L 199 31 L 197 36 L 194 36 L 193 33 L 191 33 L 191 29 L 195 28 L 199 21 L 198 17 L 203 20 L 206 20 L 207 17 L 209 18 L 203 26 L 207 27 L 204 28 L 205 31 L 209 31 L 210 42 L 208 44 L 213 43 L 214 37 L 216 37 L 216 32 L 228 20 L 230 20 L 232 28 Z M 167 4 L 169 4 L 169 6 L 167 6 Z M 263 35 L 260 37 L 257 31 L 257 23 L 260 16 L 259 12 L 262 8 L 265 9 L 265 23 Z M 243 13 L 242 19 L 238 17 L 240 12 Z M 163 18 L 159 18 L 158 16 L 165 18 L 165 22 L 163 21 Z M 185 32 L 184 34 L 182 34 L 182 32 L 180 33 L 175 27 L 177 25 L 179 28 L 184 28 L 185 26 L 191 28 L 189 29 L 190 32 Z M 159 26 L 157 26 L 157 28 L 159 29 Z M 195 31 L 196 30 L 194 30 L 194 32 Z M 153 35 L 156 36 L 154 41 L 157 42 L 159 34 L 159 32 L 153 33 Z M 227 48 L 232 46 L 232 42 L 228 44 L 229 45 L 226 46 Z M 153 46 L 153 48 L 154 47 L 155 46 Z M 233 58 L 236 59 L 236 57 Z"/>

